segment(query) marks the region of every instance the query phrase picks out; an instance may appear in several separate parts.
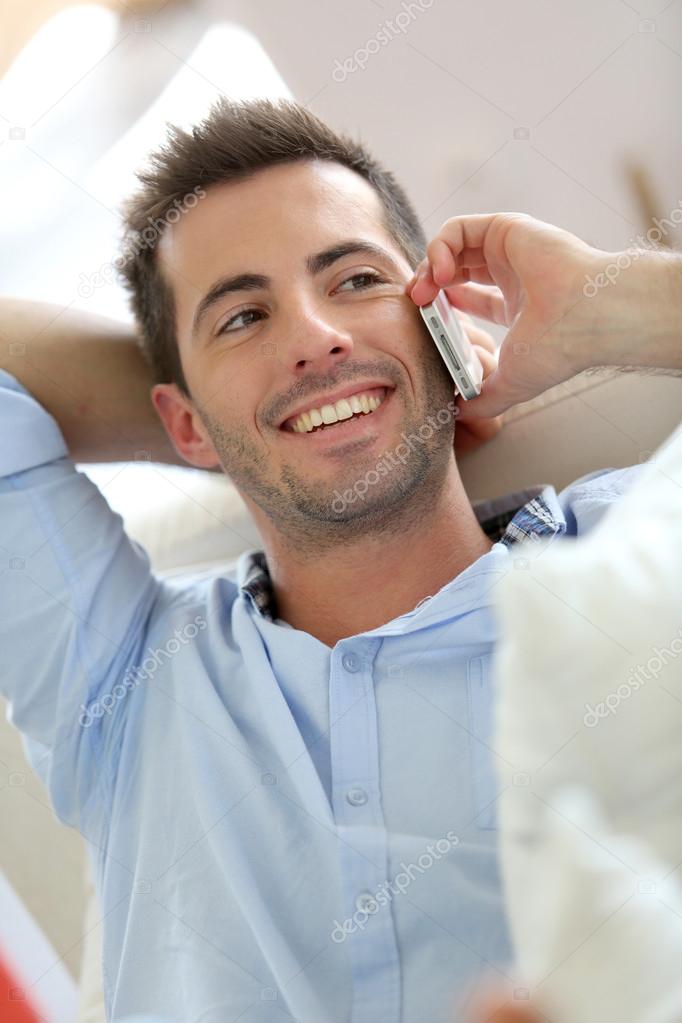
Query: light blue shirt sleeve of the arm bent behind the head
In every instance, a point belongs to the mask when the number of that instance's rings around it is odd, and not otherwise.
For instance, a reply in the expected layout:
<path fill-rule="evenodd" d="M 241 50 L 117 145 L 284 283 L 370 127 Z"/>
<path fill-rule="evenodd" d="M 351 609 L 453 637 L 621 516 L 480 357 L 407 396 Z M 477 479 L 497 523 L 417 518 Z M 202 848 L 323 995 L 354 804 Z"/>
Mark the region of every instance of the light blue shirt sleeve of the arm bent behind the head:
<path fill-rule="evenodd" d="M 85 834 L 132 713 L 115 687 L 161 583 L 54 418 L 2 370 L 0 437 L 0 692 L 57 816 Z"/>

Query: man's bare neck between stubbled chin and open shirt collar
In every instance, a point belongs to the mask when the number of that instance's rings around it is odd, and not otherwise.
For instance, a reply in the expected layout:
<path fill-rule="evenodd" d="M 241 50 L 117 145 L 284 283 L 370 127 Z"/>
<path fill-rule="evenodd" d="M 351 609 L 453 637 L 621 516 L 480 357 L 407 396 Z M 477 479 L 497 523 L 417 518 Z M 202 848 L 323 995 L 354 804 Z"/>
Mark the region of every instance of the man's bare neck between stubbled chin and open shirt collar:
<path fill-rule="evenodd" d="M 262 528 L 279 617 L 333 647 L 412 611 L 493 545 L 454 459 L 438 499 L 408 518 L 388 539 L 367 534 L 306 560 Z"/>

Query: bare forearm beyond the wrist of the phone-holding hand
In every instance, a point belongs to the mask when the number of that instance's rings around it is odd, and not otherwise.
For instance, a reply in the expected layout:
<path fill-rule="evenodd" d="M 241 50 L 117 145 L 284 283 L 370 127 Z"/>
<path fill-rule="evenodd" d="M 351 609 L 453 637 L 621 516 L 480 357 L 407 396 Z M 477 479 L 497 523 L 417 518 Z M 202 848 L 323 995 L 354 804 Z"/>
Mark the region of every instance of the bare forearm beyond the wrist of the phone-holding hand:
<path fill-rule="evenodd" d="M 590 297 L 582 303 L 588 323 L 583 318 L 582 339 L 576 339 L 581 368 L 642 366 L 682 372 L 682 255 L 601 253 L 590 279 L 594 286 L 584 293 Z"/>

